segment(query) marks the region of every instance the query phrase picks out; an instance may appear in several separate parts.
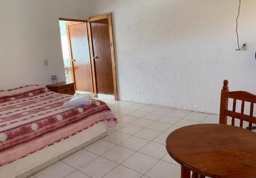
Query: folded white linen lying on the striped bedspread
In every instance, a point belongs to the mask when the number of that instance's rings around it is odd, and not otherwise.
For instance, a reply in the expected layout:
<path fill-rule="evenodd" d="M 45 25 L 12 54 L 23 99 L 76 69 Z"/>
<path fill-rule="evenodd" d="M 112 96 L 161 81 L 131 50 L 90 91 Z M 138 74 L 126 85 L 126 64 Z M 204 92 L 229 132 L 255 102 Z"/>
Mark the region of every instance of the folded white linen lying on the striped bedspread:
<path fill-rule="evenodd" d="M 76 107 L 83 105 L 91 105 L 92 98 L 94 97 L 93 93 L 79 94 L 75 93 L 72 98 L 67 101 L 63 106 L 65 107 Z"/>

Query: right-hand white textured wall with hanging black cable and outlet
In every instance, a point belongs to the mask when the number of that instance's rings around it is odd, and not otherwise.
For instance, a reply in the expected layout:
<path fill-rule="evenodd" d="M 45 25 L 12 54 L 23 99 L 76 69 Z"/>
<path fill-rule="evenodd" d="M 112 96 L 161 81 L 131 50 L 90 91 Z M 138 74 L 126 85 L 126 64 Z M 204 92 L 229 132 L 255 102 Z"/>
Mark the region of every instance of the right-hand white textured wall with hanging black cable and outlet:
<path fill-rule="evenodd" d="M 222 81 L 256 93 L 256 1 L 94 0 L 90 15 L 113 13 L 121 100 L 219 112 Z"/>

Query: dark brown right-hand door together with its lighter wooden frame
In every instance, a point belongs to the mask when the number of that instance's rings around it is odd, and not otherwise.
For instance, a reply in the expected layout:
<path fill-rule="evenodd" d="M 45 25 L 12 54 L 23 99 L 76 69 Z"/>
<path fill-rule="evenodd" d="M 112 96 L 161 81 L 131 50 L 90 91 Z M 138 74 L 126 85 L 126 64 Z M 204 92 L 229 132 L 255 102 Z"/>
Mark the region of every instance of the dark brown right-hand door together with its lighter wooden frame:
<path fill-rule="evenodd" d="M 88 23 L 94 93 L 117 95 L 111 13 L 90 17 Z"/>

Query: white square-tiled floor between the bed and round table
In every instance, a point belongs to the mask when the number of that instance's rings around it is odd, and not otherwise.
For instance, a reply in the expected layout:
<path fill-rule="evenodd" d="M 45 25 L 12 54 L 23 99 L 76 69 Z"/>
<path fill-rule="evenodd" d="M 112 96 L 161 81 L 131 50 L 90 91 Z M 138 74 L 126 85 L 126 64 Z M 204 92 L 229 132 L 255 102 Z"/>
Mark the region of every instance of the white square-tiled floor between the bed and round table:
<path fill-rule="evenodd" d="M 169 133 L 181 126 L 218 123 L 217 115 L 103 98 L 119 123 L 109 135 L 30 178 L 180 178 L 166 152 Z"/>

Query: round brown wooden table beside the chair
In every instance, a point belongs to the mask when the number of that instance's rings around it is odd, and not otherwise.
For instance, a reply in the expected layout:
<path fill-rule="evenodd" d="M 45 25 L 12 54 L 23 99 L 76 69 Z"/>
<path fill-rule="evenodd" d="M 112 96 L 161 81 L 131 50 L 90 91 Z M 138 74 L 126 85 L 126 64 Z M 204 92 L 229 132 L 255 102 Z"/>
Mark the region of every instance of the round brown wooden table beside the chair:
<path fill-rule="evenodd" d="M 256 177 L 256 133 L 224 124 L 189 125 L 166 139 L 169 155 L 201 177 Z"/>

